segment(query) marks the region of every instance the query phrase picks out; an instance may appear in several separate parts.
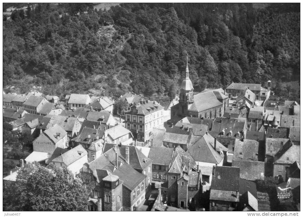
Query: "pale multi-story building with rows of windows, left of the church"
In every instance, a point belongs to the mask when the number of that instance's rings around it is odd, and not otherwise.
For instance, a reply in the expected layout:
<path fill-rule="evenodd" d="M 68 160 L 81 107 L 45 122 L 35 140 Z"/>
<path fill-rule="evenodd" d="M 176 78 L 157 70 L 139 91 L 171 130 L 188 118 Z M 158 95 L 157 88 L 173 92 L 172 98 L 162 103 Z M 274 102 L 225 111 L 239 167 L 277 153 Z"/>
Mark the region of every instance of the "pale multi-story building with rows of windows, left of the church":
<path fill-rule="evenodd" d="M 129 129 L 137 141 L 146 142 L 152 129 L 163 128 L 164 107 L 156 101 L 140 101 L 125 112 L 125 128 Z"/>

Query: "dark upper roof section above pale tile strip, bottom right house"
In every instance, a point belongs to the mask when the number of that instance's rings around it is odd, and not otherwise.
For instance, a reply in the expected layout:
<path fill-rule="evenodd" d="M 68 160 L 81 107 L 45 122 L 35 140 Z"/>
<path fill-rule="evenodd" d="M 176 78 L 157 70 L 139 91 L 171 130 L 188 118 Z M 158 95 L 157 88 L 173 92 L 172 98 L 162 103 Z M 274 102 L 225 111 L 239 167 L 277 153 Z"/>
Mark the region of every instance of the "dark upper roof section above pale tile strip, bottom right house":
<path fill-rule="evenodd" d="M 240 169 L 230 166 L 214 166 L 211 190 L 239 191 Z"/>

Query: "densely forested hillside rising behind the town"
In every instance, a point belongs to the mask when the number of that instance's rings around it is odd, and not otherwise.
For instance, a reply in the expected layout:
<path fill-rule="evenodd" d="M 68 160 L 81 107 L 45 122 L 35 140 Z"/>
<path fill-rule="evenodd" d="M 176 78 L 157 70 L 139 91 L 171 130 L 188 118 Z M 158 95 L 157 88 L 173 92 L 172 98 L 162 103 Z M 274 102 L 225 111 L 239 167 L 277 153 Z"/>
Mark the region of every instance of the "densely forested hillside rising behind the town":
<path fill-rule="evenodd" d="M 299 3 L 32 4 L 3 19 L 3 84 L 20 92 L 174 96 L 186 53 L 195 91 L 300 78 Z"/>

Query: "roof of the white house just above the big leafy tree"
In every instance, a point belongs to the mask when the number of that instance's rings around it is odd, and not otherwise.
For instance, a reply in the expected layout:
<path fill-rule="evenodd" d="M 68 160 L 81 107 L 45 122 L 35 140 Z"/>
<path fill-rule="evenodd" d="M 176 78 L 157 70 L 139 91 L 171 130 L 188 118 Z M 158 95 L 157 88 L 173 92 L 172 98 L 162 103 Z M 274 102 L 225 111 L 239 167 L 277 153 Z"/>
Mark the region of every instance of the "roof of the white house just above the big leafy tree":
<path fill-rule="evenodd" d="M 55 155 L 54 155 L 55 154 Z M 79 160 L 82 157 L 85 157 L 87 152 L 82 147 L 82 145 L 77 145 L 75 148 L 68 150 L 67 152 L 60 149 L 56 153 L 52 154 L 52 157 L 48 160 L 49 162 L 62 162 L 66 166 L 72 164 L 73 162 Z M 52 160 L 51 160 L 52 159 Z"/>

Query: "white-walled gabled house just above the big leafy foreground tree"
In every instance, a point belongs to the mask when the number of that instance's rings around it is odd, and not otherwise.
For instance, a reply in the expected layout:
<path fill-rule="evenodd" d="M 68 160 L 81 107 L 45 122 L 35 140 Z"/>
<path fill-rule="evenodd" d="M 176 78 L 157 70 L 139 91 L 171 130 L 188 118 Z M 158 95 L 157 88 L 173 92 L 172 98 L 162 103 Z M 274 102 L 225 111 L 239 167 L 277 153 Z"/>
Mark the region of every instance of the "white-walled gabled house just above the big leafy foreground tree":
<path fill-rule="evenodd" d="M 66 167 L 76 176 L 87 162 L 87 152 L 82 145 L 78 145 L 70 150 L 57 147 L 46 163 Z"/>

